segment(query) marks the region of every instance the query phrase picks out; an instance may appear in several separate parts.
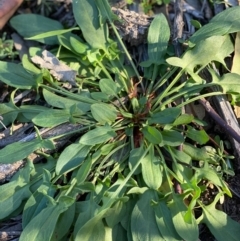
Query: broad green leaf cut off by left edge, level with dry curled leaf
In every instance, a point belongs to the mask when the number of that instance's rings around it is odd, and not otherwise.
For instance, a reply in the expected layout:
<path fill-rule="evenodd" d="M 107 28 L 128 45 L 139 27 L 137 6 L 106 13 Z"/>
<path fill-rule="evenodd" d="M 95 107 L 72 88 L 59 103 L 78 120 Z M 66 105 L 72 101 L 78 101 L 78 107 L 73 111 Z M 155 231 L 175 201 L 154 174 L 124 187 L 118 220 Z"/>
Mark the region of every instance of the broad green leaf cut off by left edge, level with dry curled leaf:
<path fill-rule="evenodd" d="M 35 78 L 20 64 L 0 61 L 0 79 L 7 85 L 19 89 L 31 89 L 36 86 Z"/>

